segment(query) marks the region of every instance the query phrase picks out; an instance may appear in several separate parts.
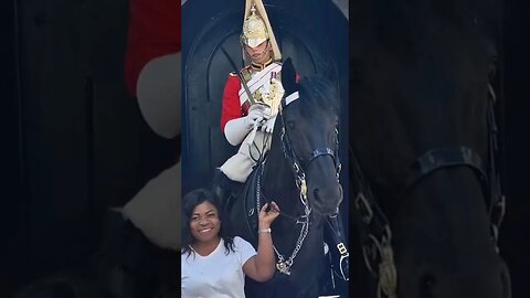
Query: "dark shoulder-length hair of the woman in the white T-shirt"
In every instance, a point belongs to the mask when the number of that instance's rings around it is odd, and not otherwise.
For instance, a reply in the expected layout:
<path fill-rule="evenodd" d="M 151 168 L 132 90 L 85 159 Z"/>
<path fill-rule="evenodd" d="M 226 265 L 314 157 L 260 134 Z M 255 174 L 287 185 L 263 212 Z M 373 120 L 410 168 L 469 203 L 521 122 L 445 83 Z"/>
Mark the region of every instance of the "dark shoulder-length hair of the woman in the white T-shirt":
<path fill-rule="evenodd" d="M 191 249 L 191 244 L 193 243 L 194 238 L 190 231 L 190 222 L 191 215 L 193 210 L 197 205 L 202 204 L 204 202 L 209 202 L 215 206 L 218 210 L 219 219 L 221 221 L 221 227 L 219 230 L 219 236 L 224 241 L 224 248 L 226 249 L 225 254 L 230 254 L 230 251 L 234 252 L 234 238 L 230 237 L 225 234 L 223 228 L 223 220 L 224 214 L 220 207 L 219 200 L 216 195 L 206 189 L 197 189 L 194 191 L 189 192 L 188 194 L 182 198 L 182 251 L 181 254 L 187 253 L 190 256 L 192 253 L 194 254 L 193 249 Z"/>

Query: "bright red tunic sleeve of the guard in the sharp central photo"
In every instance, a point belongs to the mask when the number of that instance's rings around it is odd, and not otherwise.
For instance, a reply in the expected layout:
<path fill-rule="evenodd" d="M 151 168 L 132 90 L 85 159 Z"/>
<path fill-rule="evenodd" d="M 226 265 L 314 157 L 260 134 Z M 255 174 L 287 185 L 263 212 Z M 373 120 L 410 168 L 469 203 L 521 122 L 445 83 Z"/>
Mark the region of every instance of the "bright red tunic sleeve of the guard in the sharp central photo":
<path fill-rule="evenodd" d="M 223 132 L 227 121 L 246 115 L 246 108 L 242 107 L 240 103 L 240 78 L 230 75 L 224 85 L 223 107 L 221 109 L 221 130 Z"/>

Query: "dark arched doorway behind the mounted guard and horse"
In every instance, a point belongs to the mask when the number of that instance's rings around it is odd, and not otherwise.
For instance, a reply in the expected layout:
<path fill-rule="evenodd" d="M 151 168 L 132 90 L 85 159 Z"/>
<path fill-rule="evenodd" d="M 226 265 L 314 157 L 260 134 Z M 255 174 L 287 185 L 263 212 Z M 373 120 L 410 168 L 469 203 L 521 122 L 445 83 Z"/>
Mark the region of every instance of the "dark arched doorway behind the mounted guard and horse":
<path fill-rule="evenodd" d="M 304 76 L 325 73 L 337 81 L 341 123 L 348 120 L 348 21 L 329 1 L 266 1 L 284 57 L 292 57 Z M 236 150 L 220 129 L 221 98 L 230 72 L 243 67 L 239 43 L 243 20 L 241 1 L 188 0 L 182 7 L 183 142 L 182 191 L 202 187 L 213 169 Z M 311 20 L 311 21 L 308 21 Z M 341 131 L 346 160 L 346 130 Z M 346 177 L 342 178 L 343 181 Z"/>

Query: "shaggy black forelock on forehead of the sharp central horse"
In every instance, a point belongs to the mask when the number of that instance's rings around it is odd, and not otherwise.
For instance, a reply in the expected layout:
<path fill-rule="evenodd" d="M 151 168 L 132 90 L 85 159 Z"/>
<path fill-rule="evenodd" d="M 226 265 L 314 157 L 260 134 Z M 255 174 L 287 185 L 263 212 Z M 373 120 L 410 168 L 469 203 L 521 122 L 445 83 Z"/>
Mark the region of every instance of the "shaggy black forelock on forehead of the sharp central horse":
<path fill-rule="evenodd" d="M 331 113 L 338 110 L 336 86 L 319 74 L 304 76 L 300 79 L 299 94 L 304 114 L 309 114 L 314 108 Z"/>

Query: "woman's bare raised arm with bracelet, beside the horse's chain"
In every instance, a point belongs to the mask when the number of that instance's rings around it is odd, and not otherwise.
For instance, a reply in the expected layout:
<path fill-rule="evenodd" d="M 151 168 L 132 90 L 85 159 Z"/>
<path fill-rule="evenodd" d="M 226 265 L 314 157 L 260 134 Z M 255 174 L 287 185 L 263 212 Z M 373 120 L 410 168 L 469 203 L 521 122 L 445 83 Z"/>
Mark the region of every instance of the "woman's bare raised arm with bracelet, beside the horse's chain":
<path fill-rule="evenodd" d="M 257 254 L 251 257 L 244 265 L 245 275 L 256 281 L 267 281 L 274 275 L 275 257 L 273 249 L 273 238 L 269 232 L 263 232 L 271 227 L 271 223 L 279 215 L 279 209 L 276 203 L 272 203 L 269 212 L 265 212 L 268 204 L 263 205 L 259 212 L 259 232 Z"/>

